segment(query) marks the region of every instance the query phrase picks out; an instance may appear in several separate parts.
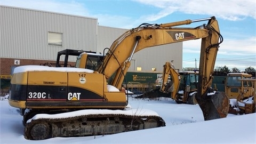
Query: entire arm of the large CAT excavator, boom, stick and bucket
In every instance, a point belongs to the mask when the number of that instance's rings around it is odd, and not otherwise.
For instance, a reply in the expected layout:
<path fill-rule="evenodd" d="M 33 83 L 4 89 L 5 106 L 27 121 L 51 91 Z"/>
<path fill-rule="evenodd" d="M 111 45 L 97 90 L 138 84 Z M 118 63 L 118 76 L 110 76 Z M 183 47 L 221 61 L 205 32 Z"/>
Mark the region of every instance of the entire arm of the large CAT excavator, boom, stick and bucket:
<path fill-rule="evenodd" d="M 196 28 L 177 27 L 199 21 L 208 21 L 208 23 Z M 226 117 L 229 106 L 229 100 L 226 95 L 218 93 L 209 96 L 207 94 L 212 92 L 210 88 L 213 78 L 212 73 L 219 44 L 222 42 L 218 21 L 215 17 L 171 22 L 161 25 L 143 23 L 137 28 L 126 31 L 126 33 L 114 41 L 98 71 L 104 74 L 107 79 L 115 73 L 111 85 L 121 89 L 124 76 L 131 65 L 130 61 L 135 52 L 147 47 L 199 38 L 202 38 L 202 44 L 197 102 L 203 111 L 205 120 Z M 215 100 L 212 98 L 215 98 Z"/>

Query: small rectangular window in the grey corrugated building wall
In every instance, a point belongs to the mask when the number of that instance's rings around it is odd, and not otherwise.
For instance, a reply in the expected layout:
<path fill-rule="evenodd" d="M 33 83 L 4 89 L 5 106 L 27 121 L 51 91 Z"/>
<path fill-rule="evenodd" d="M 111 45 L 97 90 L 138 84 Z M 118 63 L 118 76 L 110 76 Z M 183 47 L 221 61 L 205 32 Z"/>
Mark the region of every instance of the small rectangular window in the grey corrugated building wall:
<path fill-rule="evenodd" d="M 48 45 L 62 46 L 62 33 L 48 32 Z"/>

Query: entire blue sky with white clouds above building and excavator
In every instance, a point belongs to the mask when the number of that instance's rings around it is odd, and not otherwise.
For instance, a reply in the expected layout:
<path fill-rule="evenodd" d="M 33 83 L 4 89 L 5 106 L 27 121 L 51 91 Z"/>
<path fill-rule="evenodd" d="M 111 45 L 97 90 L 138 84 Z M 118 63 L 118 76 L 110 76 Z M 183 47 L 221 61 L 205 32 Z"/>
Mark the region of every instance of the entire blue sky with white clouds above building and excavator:
<path fill-rule="evenodd" d="M 256 69 L 255 0 L 0 0 L 0 5 L 97 18 L 100 26 L 124 29 L 141 23 L 161 24 L 215 16 L 223 36 L 215 68 Z M 201 39 L 183 42 L 182 67 L 199 67 L 200 45 Z"/>

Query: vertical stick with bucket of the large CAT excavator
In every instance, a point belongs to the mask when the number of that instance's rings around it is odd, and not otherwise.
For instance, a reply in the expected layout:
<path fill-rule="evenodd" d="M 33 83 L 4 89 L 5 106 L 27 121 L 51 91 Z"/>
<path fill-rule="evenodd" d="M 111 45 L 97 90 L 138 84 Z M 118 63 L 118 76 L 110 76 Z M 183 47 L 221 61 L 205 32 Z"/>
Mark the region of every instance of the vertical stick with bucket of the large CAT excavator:
<path fill-rule="evenodd" d="M 224 92 L 214 92 L 211 88 L 215 60 L 223 38 L 216 20 L 209 20 L 207 26 L 211 30 L 209 36 L 202 38 L 201 42 L 196 100 L 203 111 L 204 119 L 211 120 L 227 116 L 229 99 Z"/>

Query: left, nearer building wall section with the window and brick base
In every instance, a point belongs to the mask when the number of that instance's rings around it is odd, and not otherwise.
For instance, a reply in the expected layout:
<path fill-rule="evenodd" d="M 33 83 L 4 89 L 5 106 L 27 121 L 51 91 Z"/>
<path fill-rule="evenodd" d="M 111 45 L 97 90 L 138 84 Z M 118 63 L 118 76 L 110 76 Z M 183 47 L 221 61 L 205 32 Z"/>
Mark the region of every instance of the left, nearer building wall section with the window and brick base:
<path fill-rule="evenodd" d="M 97 50 L 97 18 L 0 5 L 0 31 L 0 75 L 27 65 L 24 59 L 34 65 L 38 60 L 55 61 L 58 51 L 65 49 Z M 48 45 L 49 32 L 62 34 L 62 46 Z M 13 59 L 20 64 L 14 65 Z"/>

